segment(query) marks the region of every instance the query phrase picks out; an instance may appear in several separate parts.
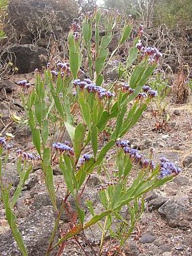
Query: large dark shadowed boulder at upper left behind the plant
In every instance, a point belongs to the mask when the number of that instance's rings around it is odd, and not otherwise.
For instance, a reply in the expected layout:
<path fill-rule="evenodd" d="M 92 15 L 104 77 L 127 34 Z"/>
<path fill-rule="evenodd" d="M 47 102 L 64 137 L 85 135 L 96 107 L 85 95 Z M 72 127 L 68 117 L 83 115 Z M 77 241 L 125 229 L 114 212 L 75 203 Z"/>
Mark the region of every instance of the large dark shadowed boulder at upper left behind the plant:
<path fill-rule="evenodd" d="M 46 66 L 47 50 L 36 45 L 14 45 L 8 49 L 12 53 L 13 63 L 18 73 L 33 72 Z"/>

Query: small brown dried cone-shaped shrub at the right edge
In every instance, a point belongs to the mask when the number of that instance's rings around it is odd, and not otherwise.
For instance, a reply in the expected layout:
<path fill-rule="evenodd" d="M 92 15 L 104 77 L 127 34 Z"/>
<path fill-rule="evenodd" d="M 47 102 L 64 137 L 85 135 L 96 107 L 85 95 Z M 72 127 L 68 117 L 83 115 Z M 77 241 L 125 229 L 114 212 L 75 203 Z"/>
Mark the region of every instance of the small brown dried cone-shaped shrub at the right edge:
<path fill-rule="evenodd" d="M 182 69 L 178 71 L 178 74 L 174 79 L 172 92 L 174 103 L 185 103 L 189 98 L 189 86 L 186 83 L 186 76 Z"/>

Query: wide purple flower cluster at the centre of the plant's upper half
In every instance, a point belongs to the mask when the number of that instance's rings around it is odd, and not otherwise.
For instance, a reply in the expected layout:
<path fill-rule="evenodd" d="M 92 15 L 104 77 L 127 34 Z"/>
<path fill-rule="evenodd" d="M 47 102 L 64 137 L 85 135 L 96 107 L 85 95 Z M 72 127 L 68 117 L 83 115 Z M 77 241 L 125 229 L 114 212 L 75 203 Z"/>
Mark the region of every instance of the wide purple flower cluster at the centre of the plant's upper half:
<path fill-rule="evenodd" d="M 73 84 L 77 87 L 79 87 L 81 90 L 88 90 L 89 93 L 94 93 L 99 98 L 111 98 L 115 97 L 114 93 L 111 93 L 110 91 L 102 88 L 101 86 L 98 86 L 94 84 L 90 79 L 84 79 L 84 81 L 81 81 L 80 79 L 76 79 L 73 81 Z"/>

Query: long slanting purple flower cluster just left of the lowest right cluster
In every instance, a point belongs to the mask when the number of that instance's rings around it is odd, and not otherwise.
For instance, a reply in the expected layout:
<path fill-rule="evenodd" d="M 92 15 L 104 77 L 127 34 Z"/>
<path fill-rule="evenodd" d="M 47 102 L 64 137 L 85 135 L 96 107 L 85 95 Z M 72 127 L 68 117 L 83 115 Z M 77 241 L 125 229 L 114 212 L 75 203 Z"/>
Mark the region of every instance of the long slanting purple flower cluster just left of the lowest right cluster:
<path fill-rule="evenodd" d="M 133 162 L 139 163 L 142 165 L 143 168 L 155 168 L 155 164 L 153 161 L 149 159 L 143 158 L 142 154 L 139 154 L 139 151 L 137 149 L 132 149 L 130 147 L 130 142 L 127 140 L 120 140 L 116 141 L 116 145 L 124 150 L 126 155 L 129 155 L 130 159 L 132 159 Z"/>

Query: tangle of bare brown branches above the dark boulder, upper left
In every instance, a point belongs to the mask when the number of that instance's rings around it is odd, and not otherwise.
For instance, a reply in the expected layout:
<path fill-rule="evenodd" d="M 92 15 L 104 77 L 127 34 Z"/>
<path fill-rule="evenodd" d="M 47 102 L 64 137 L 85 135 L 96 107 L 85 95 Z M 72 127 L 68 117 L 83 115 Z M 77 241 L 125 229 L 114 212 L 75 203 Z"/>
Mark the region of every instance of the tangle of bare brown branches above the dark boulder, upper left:
<path fill-rule="evenodd" d="M 40 38 L 62 37 L 78 17 L 78 5 L 75 0 L 10 0 L 8 17 L 15 34 L 12 40 L 38 43 Z"/>

